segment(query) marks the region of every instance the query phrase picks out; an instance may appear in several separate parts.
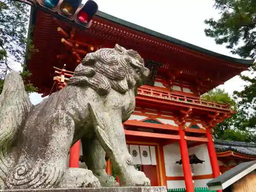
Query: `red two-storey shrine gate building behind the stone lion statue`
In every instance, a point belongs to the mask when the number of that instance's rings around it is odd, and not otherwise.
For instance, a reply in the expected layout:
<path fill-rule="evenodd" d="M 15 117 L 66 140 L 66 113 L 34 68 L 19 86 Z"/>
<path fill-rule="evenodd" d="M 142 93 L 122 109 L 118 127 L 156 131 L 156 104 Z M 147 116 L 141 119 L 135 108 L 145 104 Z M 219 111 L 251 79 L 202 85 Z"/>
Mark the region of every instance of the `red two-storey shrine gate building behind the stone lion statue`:
<path fill-rule="evenodd" d="M 43 97 L 65 87 L 89 52 L 119 44 L 144 58 L 150 77 L 138 89 L 136 109 L 123 124 L 134 164 L 152 186 L 200 191 L 220 171 L 256 159 L 255 145 L 212 139 L 216 123 L 235 112 L 228 104 L 200 98 L 247 70 L 253 60 L 215 53 L 101 11 L 89 19 L 79 11 L 65 16 L 55 9 L 57 4 L 51 10 L 38 2 L 31 7 L 29 28 L 35 51 L 29 52 L 26 64 L 32 73 L 28 80 Z M 71 147 L 67 166 L 84 166 L 80 148 L 79 141 Z M 107 165 L 112 174 L 109 160 Z"/>

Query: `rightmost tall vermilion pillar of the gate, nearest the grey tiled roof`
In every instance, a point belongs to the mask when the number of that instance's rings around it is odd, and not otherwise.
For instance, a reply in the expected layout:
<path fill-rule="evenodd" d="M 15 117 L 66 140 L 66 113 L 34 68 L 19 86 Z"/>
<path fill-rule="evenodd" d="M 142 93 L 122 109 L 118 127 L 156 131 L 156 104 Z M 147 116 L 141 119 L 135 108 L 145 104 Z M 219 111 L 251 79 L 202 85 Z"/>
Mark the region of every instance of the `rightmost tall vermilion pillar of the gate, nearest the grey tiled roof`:
<path fill-rule="evenodd" d="M 211 136 L 211 129 L 206 129 L 206 137 L 208 139 L 207 147 L 208 147 L 208 153 L 210 157 L 210 164 L 212 169 L 212 175 L 214 178 L 218 177 L 220 175 L 220 168 L 219 163 L 215 151 L 214 141 Z M 217 192 L 221 192 L 222 190 L 217 190 Z"/>

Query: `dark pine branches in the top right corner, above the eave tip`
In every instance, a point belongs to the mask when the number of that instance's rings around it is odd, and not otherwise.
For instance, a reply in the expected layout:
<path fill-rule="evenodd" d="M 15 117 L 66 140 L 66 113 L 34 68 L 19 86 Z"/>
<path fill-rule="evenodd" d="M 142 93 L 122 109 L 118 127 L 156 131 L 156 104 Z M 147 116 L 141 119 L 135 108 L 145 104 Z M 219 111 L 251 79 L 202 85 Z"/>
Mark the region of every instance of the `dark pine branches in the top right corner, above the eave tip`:
<path fill-rule="evenodd" d="M 255 0 L 215 0 L 214 7 L 221 17 L 206 19 L 205 35 L 214 37 L 216 44 L 227 44 L 231 53 L 243 58 L 256 55 L 256 1 Z M 241 44 L 241 46 L 238 46 Z"/>

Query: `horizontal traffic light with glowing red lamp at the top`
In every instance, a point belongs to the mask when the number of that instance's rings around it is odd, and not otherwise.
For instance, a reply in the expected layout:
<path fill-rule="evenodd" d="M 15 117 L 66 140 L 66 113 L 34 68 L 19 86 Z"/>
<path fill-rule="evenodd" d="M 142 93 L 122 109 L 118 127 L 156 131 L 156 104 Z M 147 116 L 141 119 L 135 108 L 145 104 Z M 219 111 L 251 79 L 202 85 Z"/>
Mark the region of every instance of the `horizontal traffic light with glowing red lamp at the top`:
<path fill-rule="evenodd" d="M 98 5 L 93 0 L 88 0 L 82 5 L 82 0 L 36 0 L 38 8 L 48 13 L 67 20 L 78 26 L 90 27 L 90 21 L 98 11 Z"/>

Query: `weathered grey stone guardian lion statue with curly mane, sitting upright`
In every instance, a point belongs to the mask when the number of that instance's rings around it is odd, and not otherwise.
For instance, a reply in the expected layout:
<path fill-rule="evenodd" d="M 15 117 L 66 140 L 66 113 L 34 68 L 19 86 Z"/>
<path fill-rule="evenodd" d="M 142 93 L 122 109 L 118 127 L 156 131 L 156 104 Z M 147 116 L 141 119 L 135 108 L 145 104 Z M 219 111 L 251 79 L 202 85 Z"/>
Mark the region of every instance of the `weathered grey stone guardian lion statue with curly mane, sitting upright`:
<path fill-rule="evenodd" d="M 122 126 L 148 73 L 136 51 L 103 48 L 87 54 L 68 86 L 33 106 L 22 78 L 10 72 L 0 96 L 0 188 L 117 186 L 105 172 L 105 152 L 122 186 L 149 186 Z M 67 168 L 79 139 L 88 169 Z"/>

